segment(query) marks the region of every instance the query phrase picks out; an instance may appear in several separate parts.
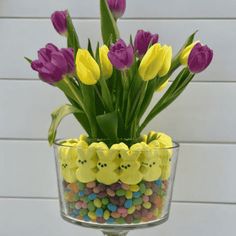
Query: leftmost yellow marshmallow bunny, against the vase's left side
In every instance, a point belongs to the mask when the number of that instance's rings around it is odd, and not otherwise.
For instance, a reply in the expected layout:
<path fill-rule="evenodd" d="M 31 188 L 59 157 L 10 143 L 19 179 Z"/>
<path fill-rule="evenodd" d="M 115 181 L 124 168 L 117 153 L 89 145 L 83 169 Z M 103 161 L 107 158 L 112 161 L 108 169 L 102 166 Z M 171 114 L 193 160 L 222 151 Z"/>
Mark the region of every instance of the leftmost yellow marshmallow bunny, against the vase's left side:
<path fill-rule="evenodd" d="M 60 173 L 67 183 L 76 182 L 77 145 L 78 140 L 70 139 L 63 142 L 62 146 L 59 148 Z"/>

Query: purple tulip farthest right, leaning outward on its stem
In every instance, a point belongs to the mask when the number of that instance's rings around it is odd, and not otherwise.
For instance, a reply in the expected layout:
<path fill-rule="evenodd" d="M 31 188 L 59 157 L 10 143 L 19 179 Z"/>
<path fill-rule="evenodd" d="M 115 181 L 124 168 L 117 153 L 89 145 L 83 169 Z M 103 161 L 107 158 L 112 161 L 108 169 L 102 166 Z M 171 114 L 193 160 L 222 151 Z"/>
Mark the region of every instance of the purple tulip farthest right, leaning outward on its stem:
<path fill-rule="evenodd" d="M 213 50 L 207 46 L 197 43 L 188 58 L 189 70 L 192 73 L 200 73 L 205 70 L 211 63 L 213 58 Z"/>

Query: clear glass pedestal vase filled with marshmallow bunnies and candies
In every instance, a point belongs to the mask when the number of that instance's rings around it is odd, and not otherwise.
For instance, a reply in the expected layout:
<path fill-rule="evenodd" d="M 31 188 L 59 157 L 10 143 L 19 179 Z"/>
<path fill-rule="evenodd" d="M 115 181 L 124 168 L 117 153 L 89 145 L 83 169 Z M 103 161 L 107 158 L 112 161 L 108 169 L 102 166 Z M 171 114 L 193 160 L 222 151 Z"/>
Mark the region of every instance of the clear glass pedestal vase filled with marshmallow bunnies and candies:
<path fill-rule="evenodd" d="M 91 154 L 73 140 L 71 145 L 65 140 L 54 144 L 64 220 L 109 236 L 168 220 L 179 145 L 118 149 L 110 153 L 94 145 Z"/>

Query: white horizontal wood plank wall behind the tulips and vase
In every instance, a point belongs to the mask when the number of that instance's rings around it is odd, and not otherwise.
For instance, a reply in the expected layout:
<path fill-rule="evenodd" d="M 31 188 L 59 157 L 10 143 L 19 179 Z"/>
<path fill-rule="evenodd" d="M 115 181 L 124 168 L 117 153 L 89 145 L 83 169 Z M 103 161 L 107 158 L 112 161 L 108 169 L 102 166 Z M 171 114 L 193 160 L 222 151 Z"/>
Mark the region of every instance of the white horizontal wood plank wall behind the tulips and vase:
<path fill-rule="evenodd" d="M 69 9 L 83 45 L 100 40 L 97 0 L 0 0 L 0 235 L 99 235 L 59 217 L 52 150 L 46 142 L 50 112 L 65 99 L 36 77 L 23 56 L 47 42 L 64 45 L 50 24 Z M 177 51 L 198 38 L 215 51 L 212 66 L 151 123 L 181 143 L 172 214 L 146 230 L 163 236 L 236 235 L 236 1 L 127 0 L 122 36 L 139 28 L 160 34 Z M 59 132 L 77 135 L 67 119 Z M 43 171 L 43 175 L 42 175 Z M 143 235 L 135 231 L 130 235 Z M 101 234 L 100 234 L 101 235 Z"/>

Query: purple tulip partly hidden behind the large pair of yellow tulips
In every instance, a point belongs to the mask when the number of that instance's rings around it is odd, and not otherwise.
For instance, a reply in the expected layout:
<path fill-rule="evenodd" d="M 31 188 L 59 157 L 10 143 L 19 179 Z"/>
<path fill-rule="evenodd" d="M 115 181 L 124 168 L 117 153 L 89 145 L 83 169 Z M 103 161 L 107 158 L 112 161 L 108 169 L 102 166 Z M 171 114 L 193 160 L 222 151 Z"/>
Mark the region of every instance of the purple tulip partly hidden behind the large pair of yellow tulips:
<path fill-rule="evenodd" d="M 158 34 L 151 34 L 144 30 L 138 30 L 134 40 L 134 50 L 138 53 L 139 57 L 143 57 L 147 52 L 148 47 L 157 43 L 158 39 Z"/>

